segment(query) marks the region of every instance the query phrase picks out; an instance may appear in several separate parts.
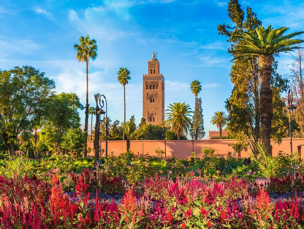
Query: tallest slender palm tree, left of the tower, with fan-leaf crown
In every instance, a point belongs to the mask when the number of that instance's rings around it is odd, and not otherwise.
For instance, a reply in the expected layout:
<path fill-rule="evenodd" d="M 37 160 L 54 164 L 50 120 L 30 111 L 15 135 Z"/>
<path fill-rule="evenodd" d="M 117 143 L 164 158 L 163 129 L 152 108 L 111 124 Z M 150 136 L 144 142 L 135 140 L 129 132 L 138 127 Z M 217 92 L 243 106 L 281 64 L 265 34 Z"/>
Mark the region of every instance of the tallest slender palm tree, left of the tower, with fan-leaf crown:
<path fill-rule="evenodd" d="M 87 137 L 88 137 L 88 120 L 89 120 L 89 95 L 88 95 L 88 67 L 89 67 L 89 59 L 93 61 L 97 58 L 97 45 L 94 39 L 90 40 L 89 35 L 86 38 L 79 38 L 80 45 L 75 44 L 74 49 L 77 51 L 76 59 L 79 62 L 86 63 L 86 80 L 87 80 L 87 88 L 86 88 L 86 99 L 85 99 L 85 146 L 83 148 L 83 157 L 87 156 Z"/>

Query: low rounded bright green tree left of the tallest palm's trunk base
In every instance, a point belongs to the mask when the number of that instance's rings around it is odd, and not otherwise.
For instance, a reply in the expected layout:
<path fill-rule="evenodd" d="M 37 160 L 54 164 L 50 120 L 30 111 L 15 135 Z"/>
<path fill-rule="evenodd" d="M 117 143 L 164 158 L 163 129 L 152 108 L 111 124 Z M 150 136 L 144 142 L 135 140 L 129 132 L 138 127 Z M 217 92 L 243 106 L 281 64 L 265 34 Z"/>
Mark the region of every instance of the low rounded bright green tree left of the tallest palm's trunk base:
<path fill-rule="evenodd" d="M 62 148 L 73 153 L 81 152 L 85 144 L 84 135 L 85 133 L 80 128 L 68 129 L 62 139 Z"/>

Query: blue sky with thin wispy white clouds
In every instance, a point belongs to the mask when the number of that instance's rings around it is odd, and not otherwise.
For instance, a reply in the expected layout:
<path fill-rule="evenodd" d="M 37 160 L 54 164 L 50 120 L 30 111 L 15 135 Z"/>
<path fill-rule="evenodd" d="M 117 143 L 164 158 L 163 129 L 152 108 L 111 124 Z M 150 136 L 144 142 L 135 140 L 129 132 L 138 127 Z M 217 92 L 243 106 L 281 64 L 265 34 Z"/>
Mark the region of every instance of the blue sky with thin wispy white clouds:
<path fill-rule="evenodd" d="M 56 83 L 56 92 L 76 93 L 85 106 L 86 66 L 76 59 L 74 44 L 81 36 L 95 39 L 97 58 L 89 61 L 89 104 L 94 94 L 107 98 L 108 116 L 123 121 L 120 67 L 130 70 L 126 85 L 126 120 L 142 118 L 143 74 L 157 52 L 165 78 L 165 109 L 185 102 L 194 110 L 193 80 L 201 82 L 205 138 L 217 130 L 213 113 L 226 111 L 230 81 L 230 44 L 217 26 L 228 23 L 228 0 L 2 0 L 0 2 L 0 69 L 30 65 Z M 288 33 L 304 30 L 304 2 L 297 0 L 239 1 L 252 8 L 262 25 L 286 26 Z M 289 73 L 292 57 L 282 53 L 278 73 Z M 80 111 L 84 126 L 84 110 Z M 93 121 L 94 122 L 94 121 Z M 89 119 L 89 130 L 90 130 Z M 93 124 L 94 126 L 94 124 Z"/>

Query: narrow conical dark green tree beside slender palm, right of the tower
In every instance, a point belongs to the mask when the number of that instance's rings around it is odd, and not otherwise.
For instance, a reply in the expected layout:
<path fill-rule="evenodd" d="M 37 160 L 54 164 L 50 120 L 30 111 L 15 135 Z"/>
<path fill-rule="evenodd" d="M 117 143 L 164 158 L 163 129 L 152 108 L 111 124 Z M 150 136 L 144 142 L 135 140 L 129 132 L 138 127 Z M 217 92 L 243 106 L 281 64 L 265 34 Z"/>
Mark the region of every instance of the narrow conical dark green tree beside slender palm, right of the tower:
<path fill-rule="evenodd" d="M 196 106 L 195 106 L 195 111 L 194 111 L 194 117 L 192 119 L 192 127 L 190 129 L 190 135 L 193 138 L 195 138 L 195 125 L 194 123 L 197 123 L 196 124 L 196 140 L 199 138 L 199 139 L 202 139 L 206 132 L 204 131 L 205 128 L 204 128 L 204 118 L 203 118 L 203 109 L 202 109 L 202 98 L 198 98 L 196 99 Z M 195 118 L 196 118 L 196 121 L 195 121 Z"/>

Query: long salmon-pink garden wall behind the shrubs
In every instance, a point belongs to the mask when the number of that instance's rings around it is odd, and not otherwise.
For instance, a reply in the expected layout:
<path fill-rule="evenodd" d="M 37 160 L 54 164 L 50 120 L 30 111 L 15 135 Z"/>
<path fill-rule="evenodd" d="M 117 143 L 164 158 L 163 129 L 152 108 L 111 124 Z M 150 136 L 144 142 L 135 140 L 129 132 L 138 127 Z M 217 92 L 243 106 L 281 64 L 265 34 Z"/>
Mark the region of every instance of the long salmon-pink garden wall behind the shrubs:
<path fill-rule="evenodd" d="M 214 148 L 215 154 L 219 153 L 224 156 L 227 156 L 227 152 L 233 152 L 231 143 L 236 142 L 233 139 L 213 139 L 213 140 L 194 140 L 193 148 L 194 152 L 196 152 L 197 156 L 202 156 L 201 149 L 203 147 L 211 147 Z M 303 145 L 301 147 L 301 145 Z M 302 158 L 304 158 L 304 139 L 296 138 L 292 139 L 292 150 L 293 152 L 302 148 Z M 88 147 L 94 148 L 93 141 L 88 141 Z M 101 142 L 101 147 L 105 149 L 105 141 Z M 165 151 L 165 142 L 159 140 L 140 140 L 140 141 L 131 141 L 130 150 L 133 151 L 136 155 L 139 154 L 147 154 L 150 156 L 157 156 L 155 154 L 156 148 L 161 148 Z M 301 150 L 301 149 L 300 149 Z M 126 141 L 108 141 L 108 155 L 111 152 L 114 155 L 119 155 L 126 151 Z M 272 155 L 276 156 L 279 151 L 290 153 L 290 139 L 283 139 L 280 145 L 272 143 Z M 171 157 L 174 156 L 178 159 L 189 159 L 192 153 L 192 141 L 191 140 L 172 140 L 166 141 L 166 156 Z M 94 152 L 90 152 L 88 156 L 94 156 Z M 103 154 L 105 156 L 105 153 Z M 238 155 L 237 155 L 238 156 Z M 240 152 L 241 157 L 248 157 L 248 152 L 242 151 Z"/>

